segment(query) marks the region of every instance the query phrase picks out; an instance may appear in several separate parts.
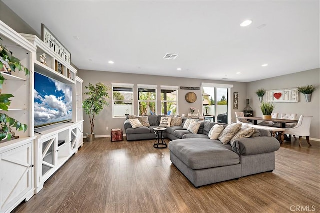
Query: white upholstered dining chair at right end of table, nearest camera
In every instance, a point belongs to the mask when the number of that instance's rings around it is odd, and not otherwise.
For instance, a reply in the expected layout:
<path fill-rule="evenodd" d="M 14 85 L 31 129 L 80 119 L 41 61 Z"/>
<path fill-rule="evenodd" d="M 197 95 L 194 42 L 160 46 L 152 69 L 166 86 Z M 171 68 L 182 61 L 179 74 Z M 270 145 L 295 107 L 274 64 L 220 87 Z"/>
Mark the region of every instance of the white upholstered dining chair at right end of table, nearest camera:
<path fill-rule="evenodd" d="M 295 135 L 299 136 L 299 146 L 302 147 L 302 137 L 306 137 L 307 143 L 310 144 L 309 136 L 310 136 L 310 125 L 312 120 L 312 115 L 301 115 L 299 118 L 298 123 L 296 126 L 292 128 L 286 128 L 284 133 L 289 134 L 289 138 L 291 141 L 291 135 L 294 135 L 294 138 L 296 139 Z"/>

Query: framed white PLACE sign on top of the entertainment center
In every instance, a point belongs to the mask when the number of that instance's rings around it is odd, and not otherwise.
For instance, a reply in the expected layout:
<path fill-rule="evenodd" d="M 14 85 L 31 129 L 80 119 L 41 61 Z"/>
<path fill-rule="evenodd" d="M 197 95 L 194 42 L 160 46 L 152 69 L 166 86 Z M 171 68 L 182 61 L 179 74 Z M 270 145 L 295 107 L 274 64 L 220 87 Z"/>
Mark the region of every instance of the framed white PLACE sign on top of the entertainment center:
<path fill-rule="evenodd" d="M 41 23 L 41 39 L 47 47 L 54 51 L 65 62 L 70 64 L 71 53 L 54 37 L 54 35 Z"/>

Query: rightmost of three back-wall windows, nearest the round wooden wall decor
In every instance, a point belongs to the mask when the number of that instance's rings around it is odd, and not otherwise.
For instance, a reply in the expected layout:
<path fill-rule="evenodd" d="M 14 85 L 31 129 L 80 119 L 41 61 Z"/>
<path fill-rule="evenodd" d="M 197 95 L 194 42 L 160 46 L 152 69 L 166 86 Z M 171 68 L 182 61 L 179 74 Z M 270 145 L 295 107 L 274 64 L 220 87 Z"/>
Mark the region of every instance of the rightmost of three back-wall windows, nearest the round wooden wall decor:
<path fill-rule="evenodd" d="M 161 86 L 161 114 L 177 115 L 178 87 Z"/>

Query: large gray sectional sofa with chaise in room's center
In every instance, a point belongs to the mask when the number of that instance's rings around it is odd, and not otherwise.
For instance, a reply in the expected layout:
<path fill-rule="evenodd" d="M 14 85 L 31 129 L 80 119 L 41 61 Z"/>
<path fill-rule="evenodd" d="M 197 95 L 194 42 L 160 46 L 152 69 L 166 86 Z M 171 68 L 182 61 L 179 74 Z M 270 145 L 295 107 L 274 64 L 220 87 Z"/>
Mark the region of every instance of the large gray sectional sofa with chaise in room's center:
<path fill-rule="evenodd" d="M 127 140 L 155 139 L 152 129 L 159 125 L 161 116 L 151 116 L 150 127 L 132 129 L 125 121 Z M 270 132 L 259 130 L 259 136 L 222 144 L 208 134 L 215 124 L 227 124 L 202 121 L 198 132 L 193 134 L 182 129 L 186 118 L 182 120 L 181 126 L 167 127 L 164 136 L 172 140 L 168 145 L 171 162 L 195 187 L 274 170 L 275 151 L 280 143 Z"/>

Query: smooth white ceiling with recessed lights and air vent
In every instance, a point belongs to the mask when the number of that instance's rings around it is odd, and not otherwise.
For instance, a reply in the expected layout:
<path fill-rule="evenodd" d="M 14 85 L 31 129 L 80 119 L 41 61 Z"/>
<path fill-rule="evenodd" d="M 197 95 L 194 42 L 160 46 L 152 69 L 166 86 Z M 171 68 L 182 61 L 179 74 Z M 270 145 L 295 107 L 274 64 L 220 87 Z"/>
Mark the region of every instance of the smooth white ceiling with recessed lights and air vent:
<path fill-rule="evenodd" d="M 320 67 L 319 1 L 3 2 L 79 69 L 250 82 Z"/>

